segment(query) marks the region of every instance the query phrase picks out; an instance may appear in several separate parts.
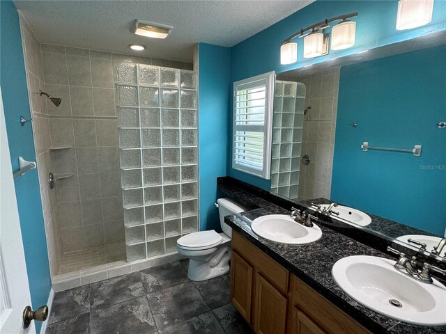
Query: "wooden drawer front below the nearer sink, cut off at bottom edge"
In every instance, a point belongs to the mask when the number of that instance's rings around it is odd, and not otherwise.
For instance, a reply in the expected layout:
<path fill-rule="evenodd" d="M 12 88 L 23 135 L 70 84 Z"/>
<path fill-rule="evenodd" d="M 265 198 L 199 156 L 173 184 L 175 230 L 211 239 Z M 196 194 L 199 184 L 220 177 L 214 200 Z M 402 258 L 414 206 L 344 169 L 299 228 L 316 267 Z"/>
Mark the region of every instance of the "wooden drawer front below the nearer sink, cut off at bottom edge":
<path fill-rule="evenodd" d="M 291 279 L 293 280 L 293 306 L 314 319 L 323 331 L 330 334 L 371 334 L 302 280 L 294 275 L 291 275 Z"/>

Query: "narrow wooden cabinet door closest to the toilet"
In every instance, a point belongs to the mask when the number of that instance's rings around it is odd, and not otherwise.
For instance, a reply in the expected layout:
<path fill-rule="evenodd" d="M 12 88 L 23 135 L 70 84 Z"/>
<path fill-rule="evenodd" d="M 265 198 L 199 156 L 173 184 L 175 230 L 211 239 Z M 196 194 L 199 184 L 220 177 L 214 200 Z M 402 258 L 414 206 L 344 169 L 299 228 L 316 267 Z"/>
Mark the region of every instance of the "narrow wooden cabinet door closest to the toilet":
<path fill-rule="evenodd" d="M 231 301 L 251 323 L 252 267 L 236 252 L 231 257 Z"/>

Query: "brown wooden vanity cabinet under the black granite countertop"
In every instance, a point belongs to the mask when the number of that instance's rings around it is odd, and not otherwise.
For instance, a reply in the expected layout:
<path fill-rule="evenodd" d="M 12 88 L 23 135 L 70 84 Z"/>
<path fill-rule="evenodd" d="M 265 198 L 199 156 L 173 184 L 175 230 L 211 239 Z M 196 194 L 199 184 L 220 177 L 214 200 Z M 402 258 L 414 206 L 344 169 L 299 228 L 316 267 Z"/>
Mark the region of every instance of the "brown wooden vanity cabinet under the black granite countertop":
<path fill-rule="evenodd" d="M 259 334 L 371 334 L 235 231 L 231 301 Z"/>

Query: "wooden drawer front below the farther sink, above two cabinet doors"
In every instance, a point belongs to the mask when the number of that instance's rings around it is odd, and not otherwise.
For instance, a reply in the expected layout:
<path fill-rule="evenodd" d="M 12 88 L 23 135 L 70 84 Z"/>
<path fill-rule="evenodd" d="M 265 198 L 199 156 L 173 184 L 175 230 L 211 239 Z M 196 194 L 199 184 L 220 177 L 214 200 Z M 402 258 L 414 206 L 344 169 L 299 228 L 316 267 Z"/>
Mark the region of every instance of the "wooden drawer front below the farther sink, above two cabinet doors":
<path fill-rule="evenodd" d="M 232 248 L 282 293 L 288 292 L 289 271 L 235 231 L 232 232 Z"/>

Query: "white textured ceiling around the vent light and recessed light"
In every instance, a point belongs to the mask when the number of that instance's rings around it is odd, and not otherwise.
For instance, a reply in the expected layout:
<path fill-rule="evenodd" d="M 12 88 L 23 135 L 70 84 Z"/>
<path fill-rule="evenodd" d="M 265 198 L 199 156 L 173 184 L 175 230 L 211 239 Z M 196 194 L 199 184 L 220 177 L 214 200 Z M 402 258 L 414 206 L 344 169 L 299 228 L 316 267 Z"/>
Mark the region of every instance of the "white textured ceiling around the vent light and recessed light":
<path fill-rule="evenodd" d="M 232 47 L 312 2 L 14 1 L 40 42 L 125 54 L 141 43 L 138 55 L 177 61 L 192 61 L 197 42 Z M 131 32 L 134 19 L 174 29 L 165 40 L 144 38 Z"/>

